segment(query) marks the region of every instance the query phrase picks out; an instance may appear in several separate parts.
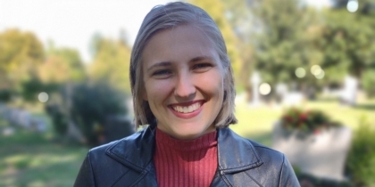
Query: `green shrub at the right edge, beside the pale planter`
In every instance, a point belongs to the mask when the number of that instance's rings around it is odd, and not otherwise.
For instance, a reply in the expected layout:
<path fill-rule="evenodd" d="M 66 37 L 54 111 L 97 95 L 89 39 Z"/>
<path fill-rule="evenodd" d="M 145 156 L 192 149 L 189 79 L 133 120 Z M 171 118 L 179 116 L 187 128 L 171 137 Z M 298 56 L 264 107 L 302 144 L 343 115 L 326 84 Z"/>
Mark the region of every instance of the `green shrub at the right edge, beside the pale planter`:
<path fill-rule="evenodd" d="M 346 159 L 346 174 L 355 186 L 375 186 L 375 127 L 365 118 L 354 132 Z"/>

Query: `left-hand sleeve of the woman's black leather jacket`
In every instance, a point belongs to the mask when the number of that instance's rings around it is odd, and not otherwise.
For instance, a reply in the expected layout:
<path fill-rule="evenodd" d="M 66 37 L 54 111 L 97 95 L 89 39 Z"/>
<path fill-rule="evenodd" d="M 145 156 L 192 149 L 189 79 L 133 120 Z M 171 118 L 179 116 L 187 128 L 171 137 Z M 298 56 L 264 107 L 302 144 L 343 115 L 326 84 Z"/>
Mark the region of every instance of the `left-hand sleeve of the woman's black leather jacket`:
<path fill-rule="evenodd" d="M 93 168 L 91 167 L 90 152 L 87 153 L 87 156 L 79 169 L 79 175 L 74 183 L 74 187 L 81 186 L 96 186 Z"/>

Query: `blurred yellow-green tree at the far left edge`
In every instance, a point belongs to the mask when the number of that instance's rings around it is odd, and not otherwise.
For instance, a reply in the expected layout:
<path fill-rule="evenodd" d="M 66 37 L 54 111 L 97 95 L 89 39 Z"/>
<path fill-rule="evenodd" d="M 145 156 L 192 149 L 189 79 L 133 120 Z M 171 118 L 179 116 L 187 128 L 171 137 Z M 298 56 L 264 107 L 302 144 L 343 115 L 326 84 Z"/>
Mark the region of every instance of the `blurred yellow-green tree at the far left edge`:
<path fill-rule="evenodd" d="M 44 58 L 43 45 L 31 32 L 9 29 L 0 33 L 0 91 L 20 92 L 21 83 L 36 72 Z"/>

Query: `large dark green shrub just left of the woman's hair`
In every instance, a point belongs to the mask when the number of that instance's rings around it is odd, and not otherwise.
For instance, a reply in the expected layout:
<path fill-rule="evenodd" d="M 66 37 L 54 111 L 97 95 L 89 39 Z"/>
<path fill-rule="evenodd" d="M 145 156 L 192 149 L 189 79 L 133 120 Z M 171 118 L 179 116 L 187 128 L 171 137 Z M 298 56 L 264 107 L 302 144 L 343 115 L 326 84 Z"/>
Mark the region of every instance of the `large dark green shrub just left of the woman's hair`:
<path fill-rule="evenodd" d="M 105 83 L 81 84 L 71 97 L 71 118 L 91 145 L 101 142 L 109 116 L 126 116 L 125 95 Z"/>

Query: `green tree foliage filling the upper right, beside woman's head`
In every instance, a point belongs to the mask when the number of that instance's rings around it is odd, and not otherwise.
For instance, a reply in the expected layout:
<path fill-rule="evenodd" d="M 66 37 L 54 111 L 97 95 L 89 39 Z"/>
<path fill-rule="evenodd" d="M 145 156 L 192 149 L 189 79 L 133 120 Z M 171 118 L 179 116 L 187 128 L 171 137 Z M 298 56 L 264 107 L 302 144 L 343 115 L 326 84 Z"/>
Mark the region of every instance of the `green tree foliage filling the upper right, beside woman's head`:
<path fill-rule="evenodd" d="M 294 82 L 319 88 L 340 85 L 347 74 L 361 78 L 363 70 L 375 67 L 374 0 L 359 1 L 357 12 L 346 10 L 347 0 L 321 10 L 298 0 L 223 2 L 244 51 L 251 53 L 241 56 L 247 76 L 254 67 L 271 85 Z M 325 71 L 321 80 L 310 72 L 315 64 Z M 296 68 L 304 68 L 305 77 L 297 78 Z"/>

